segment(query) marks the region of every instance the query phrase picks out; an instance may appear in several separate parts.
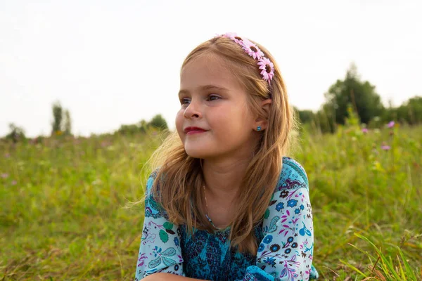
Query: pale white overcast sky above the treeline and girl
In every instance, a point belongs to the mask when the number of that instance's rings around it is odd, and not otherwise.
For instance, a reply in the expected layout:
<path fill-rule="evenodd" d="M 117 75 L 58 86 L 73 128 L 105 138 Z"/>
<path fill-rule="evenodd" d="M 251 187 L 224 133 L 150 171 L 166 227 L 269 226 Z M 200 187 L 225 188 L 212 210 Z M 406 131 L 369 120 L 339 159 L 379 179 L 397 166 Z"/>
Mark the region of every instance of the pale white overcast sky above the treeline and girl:
<path fill-rule="evenodd" d="M 179 110 L 181 63 L 237 32 L 278 63 L 290 102 L 318 110 L 351 63 L 383 103 L 422 96 L 422 1 L 0 1 L 0 136 L 48 135 L 51 106 L 76 135 Z"/>

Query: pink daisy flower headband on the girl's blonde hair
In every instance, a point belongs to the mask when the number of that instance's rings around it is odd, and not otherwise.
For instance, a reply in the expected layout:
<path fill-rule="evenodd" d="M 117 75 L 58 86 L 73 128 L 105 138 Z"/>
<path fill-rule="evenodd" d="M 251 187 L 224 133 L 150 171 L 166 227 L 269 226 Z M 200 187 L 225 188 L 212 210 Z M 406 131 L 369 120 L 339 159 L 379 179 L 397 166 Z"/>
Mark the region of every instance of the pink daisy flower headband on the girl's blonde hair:
<path fill-rule="evenodd" d="M 217 37 L 226 37 L 239 44 L 245 53 L 248 53 L 254 60 L 258 61 L 258 66 L 261 70 L 262 79 L 268 82 L 271 85 L 271 79 L 274 77 L 274 64 L 271 63 L 271 60 L 265 58 L 264 53 L 258 48 L 256 44 L 253 44 L 246 38 L 238 37 L 236 33 L 226 33 L 222 35 L 217 35 Z"/>

